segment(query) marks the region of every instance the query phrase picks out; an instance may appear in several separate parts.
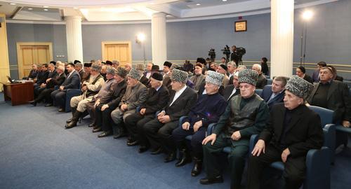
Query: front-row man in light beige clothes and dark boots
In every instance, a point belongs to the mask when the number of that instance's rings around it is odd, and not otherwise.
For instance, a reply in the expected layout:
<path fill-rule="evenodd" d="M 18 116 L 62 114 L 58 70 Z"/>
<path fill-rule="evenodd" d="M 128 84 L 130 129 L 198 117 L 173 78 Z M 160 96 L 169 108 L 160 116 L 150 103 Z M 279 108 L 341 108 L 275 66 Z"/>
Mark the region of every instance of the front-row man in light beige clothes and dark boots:
<path fill-rule="evenodd" d="M 66 129 L 70 129 L 72 127 L 77 126 L 77 122 L 81 115 L 86 111 L 88 103 L 93 100 L 95 94 L 98 94 L 102 85 L 104 85 L 105 80 L 100 75 L 101 66 L 99 64 L 91 65 L 91 75 L 89 79 L 84 81 L 81 85 L 81 94 L 77 97 L 72 97 L 70 106 L 72 109 L 72 118 L 67 120 L 67 125 L 65 125 Z"/>

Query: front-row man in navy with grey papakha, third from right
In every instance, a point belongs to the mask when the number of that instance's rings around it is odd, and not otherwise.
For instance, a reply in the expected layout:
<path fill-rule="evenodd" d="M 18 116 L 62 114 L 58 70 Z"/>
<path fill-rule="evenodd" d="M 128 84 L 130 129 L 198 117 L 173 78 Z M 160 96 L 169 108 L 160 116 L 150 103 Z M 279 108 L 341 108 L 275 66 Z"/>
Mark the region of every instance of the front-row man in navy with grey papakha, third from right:
<path fill-rule="evenodd" d="M 217 123 L 227 106 L 227 101 L 218 93 L 223 79 L 222 73 L 208 71 L 205 86 L 206 94 L 199 97 L 197 104 L 190 110 L 182 127 L 178 127 L 172 132 L 173 140 L 176 142 L 180 153 L 176 167 L 181 167 L 187 162 L 191 162 L 185 137 L 192 135 L 191 149 L 194 157 L 192 176 L 197 176 L 201 173 L 203 159 L 202 141 L 206 137 L 207 127 L 211 123 Z"/>

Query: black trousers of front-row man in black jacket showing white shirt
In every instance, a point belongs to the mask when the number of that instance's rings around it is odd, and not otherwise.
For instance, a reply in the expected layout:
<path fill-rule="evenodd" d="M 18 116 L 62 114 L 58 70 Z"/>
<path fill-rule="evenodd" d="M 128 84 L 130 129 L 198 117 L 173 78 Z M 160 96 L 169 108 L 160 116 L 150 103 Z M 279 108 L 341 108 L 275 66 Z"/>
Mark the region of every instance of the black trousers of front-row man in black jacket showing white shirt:
<path fill-rule="evenodd" d="M 150 122 L 146 123 L 141 132 L 145 134 L 145 137 L 150 142 L 152 149 L 163 147 L 167 153 L 176 151 L 176 146 L 172 140 L 172 132 L 178 127 L 179 121 L 173 121 L 169 123 L 161 123 L 157 118 L 154 118 Z"/>

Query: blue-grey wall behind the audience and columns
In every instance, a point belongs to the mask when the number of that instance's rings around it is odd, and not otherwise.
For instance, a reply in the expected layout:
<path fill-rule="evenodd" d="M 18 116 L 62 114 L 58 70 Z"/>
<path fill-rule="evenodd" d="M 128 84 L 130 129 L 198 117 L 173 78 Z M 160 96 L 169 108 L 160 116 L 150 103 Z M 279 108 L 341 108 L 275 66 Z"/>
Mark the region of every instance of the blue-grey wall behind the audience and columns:
<path fill-rule="evenodd" d="M 340 0 L 312 7 L 314 18 L 307 24 L 307 50 L 305 62 L 325 61 L 333 64 L 351 65 L 351 1 Z M 294 62 L 300 62 L 300 34 L 303 22 L 295 11 Z M 225 45 L 246 48 L 244 61 L 259 61 L 260 57 L 270 59 L 270 13 L 244 17 L 248 31 L 234 32 L 237 18 L 200 20 L 190 22 L 167 22 L 168 59 L 196 59 L 207 57 L 210 48 L 216 49 L 216 59 L 224 55 L 220 51 Z M 8 24 L 8 50 L 10 64 L 17 64 L 15 43 L 24 41 L 53 42 L 54 58 L 65 55 L 67 46 L 64 25 Z M 146 35 L 146 59 L 152 58 L 151 25 L 82 25 L 84 61 L 101 58 L 101 41 L 131 41 L 133 61 L 143 60 L 143 47 L 135 43 L 139 32 Z M 307 65 L 307 73 L 314 65 Z M 350 69 L 338 67 L 337 69 Z M 346 72 L 339 72 L 344 78 L 351 78 Z M 17 71 L 12 70 L 15 78 Z"/>

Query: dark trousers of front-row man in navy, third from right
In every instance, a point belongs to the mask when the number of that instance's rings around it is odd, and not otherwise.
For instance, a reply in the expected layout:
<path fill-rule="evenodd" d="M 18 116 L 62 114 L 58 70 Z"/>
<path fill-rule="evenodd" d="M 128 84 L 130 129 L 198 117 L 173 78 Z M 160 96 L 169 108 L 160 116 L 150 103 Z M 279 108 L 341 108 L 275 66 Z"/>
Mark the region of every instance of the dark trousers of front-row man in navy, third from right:
<path fill-rule="evenodd" d="M 185 137 L 192 135 L 192 140 L 190 141 L 192 152 L 197 158 L 202 157 L 202 141 L 206 137 L 206 127 L 200 127 L 197 132 L 194 132 L 193 128 L 190 130 L 183 130 L 183 127 L 178 127 L 176 130 L 173 130 L 172 137 L 173 141 L 176 143 L 177 148 L 183 148 L 182 144 L 186 140 Z"/>

